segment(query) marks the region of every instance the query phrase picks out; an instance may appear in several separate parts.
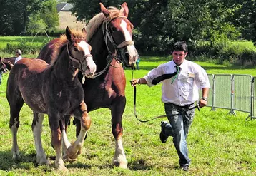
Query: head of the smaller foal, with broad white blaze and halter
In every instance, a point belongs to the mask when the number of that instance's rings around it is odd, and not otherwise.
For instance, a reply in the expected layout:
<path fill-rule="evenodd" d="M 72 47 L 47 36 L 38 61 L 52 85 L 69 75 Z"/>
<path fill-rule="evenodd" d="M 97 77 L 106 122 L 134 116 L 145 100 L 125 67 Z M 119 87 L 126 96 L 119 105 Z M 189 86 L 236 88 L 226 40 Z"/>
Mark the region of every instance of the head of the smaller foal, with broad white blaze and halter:
<path fill-rule="evenodd" d="M 96 71 L 96 64 L 91 55 L 92 47 L 85 41 L 86 31 L 82 29 L 84 37 L 77 36 L 66 28 L 66 37 L 69 40 L 67 44 L 67 53 L 71 60 L 72 66 L 79 69 L 88 78 L 93 76 Z"/>

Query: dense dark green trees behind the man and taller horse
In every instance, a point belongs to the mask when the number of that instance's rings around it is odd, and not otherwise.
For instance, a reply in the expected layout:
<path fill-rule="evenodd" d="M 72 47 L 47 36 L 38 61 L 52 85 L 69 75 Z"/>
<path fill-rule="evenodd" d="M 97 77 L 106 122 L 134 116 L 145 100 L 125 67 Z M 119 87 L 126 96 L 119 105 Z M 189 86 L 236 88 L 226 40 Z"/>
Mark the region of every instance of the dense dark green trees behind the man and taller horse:
<path fill-rule="evenodd" d="M 79 20 L 99 13 L 99 2 L 117 6 L 120 0 L 69 0 Z M 175 41 L 256 41 L 255 0 L 127 0 L 134 40 L 140 51 L 168 51 Z M 157 49 L 156 49 L 157 48 Z"/>

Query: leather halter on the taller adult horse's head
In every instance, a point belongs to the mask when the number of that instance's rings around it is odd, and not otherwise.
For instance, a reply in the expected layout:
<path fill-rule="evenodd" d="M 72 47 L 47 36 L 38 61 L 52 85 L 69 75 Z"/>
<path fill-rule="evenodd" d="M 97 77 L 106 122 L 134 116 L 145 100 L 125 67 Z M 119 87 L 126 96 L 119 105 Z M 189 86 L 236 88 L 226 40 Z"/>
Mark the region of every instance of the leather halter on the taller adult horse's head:
<path fill-rule="evenodd" d="M 104 41 L 106 43 L 106 46 L 107 46 L 107 51 L 109 52 L 109 55 L 112 56 L 112 58 L 114 57 L 117 61 L 119 62 L 122 62 L 119 58 L 117 58 L 117 51 L 118 50 L 122 50 L 122 48 L 126 47 L 126 46 L 129 46 L 129 45 L 134 45 L 134 41 L 123 41 L 122 43 L 120 43 L 119 45 L 117 45 L 117 43 L 114 42 L 114 39 L 113 39 L 113 36 L 112 36 L 112 33 L 109 31 L 108 29 L 108 25 L 109 23 L 114 20 L 114 19 L 119 19 L 119 18 L 125 18 L 127 19 L 126 16 L 117 16 L 116 18 L 113 18 L 109 21 L 104 21 L 103 22 L 103 27 L 102 27 L 102 32 L 103 32 L 103 36 L 104 36 Z M 106 32 L 105 32 L 106 31 Z M 114 47 L 115 49 L 115 53 L 112 53 L 110 50 L 109 50 L 109 46 L 107 44 L 107 38 L 109 38 L 109 41 L 110 43 L 112 43 L 112 46 Z"/>

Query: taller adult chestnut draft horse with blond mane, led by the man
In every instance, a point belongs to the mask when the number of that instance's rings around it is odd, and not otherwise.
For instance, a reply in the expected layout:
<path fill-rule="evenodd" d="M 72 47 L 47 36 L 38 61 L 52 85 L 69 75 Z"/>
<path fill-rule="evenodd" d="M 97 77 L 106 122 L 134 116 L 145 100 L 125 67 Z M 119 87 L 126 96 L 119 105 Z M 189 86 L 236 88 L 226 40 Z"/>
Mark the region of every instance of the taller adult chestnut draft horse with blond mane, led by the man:
<path fill-rule="evenodd" d="M 115 139 L 113 163 L 127 168 L 127 159 L 122 145 L 122 115 L 126 105 L 124 94 L 126 79 L 120 63 L 133 66 L 138 53 L 132 41 L 132 23 L 127 19 L 129 9 L 126 3 L 120 6 L 105 8 L 100 3 L 101 13 L 94 16 L 87 24 L 87 42 L 92 46 L 92 56 L 97 65 L 97 73 L 85 79 L 84 102 L 88 112 L 99 108 L 109 108 L 112 115 L 112 134 Z M 52 43 L 48 43 L 39 53 L 38 58 L 46 62 L 54 52 Z M 80 81 L 82 76 L 80 76 Z M 66 118 L 69 120 L 69 117 Z M 76 120 L 76 119 L 74 119 Z M 80 120 L 76 120 L 77 135 L 80 131 Z M 66 122 L 67 124 L 67 122 Z"/>

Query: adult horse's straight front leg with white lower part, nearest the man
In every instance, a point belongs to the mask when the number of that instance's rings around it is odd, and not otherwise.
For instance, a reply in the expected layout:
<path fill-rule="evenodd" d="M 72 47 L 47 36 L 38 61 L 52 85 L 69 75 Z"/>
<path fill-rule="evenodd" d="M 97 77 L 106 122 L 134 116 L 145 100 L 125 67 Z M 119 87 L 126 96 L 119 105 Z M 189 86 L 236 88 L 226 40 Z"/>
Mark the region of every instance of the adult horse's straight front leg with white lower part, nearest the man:
<path fill-rule="evenodd" d="M 122 115 L 124 113 L 124 107 L 126 104 L 125 97 L 121 97 L 111 106 L 112 115 L 112 133 L 115 140 L 115 152 L 113 158 L 113 164 L 121 168 L 127 169 L 127 159 L 124 154 L 124 148 L 122 145 Z"/>

